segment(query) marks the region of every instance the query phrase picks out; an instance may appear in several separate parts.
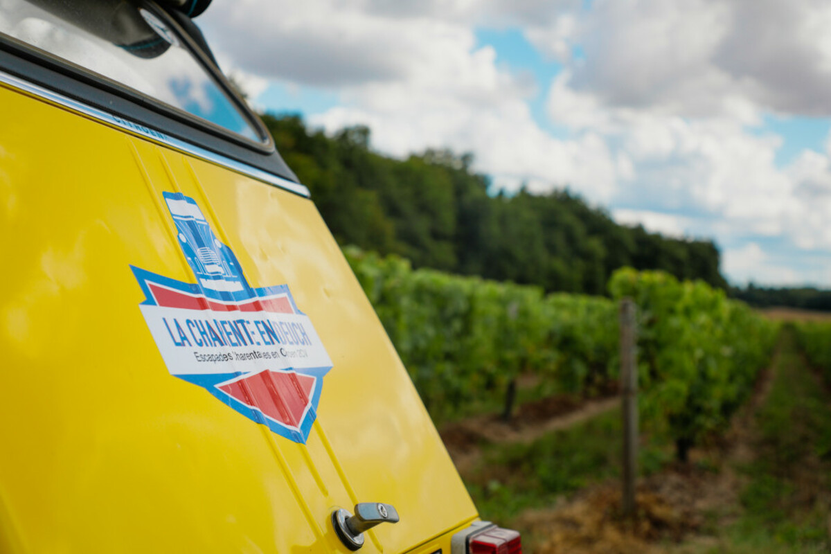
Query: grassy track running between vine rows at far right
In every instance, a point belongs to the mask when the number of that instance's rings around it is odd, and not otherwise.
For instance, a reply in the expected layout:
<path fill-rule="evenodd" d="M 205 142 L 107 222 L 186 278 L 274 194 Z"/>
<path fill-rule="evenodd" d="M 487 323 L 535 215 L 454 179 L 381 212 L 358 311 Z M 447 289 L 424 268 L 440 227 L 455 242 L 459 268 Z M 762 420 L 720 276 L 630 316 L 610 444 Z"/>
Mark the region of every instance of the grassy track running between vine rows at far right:
<path fill-rule="evenodd" d="M 726 531 L 730 548 L 708 552 L 829 552 L 831 406 L 784 330 L 774 383 L 756 414 L 755 461 L 744 508 Z"/>

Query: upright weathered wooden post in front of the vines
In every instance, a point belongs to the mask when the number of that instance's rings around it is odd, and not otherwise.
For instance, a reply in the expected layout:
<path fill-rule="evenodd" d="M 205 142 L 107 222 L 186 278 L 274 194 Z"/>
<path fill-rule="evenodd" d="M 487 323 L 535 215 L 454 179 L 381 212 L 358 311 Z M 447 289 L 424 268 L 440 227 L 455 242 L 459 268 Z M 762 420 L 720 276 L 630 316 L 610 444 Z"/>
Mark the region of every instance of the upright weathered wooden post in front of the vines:
<path fill-rule="evenodd" d="M 623 515 L 635 515 L 637 478 L 637 360 L 635 302 L 620 302 L 621 395 L 623 406 Z"/>

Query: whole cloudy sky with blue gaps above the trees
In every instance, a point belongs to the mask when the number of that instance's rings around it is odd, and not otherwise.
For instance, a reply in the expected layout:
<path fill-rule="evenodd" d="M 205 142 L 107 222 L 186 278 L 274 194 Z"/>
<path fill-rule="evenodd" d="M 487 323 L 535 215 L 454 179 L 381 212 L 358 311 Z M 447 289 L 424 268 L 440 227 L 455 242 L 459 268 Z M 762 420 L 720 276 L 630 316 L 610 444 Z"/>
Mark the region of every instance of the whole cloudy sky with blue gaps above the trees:
<path fill-rule="evenodd" d="M 831 287 L 831 2 L 214 0 L 197 22 L 260 109 L 713 238 L 734 283 Z"/>

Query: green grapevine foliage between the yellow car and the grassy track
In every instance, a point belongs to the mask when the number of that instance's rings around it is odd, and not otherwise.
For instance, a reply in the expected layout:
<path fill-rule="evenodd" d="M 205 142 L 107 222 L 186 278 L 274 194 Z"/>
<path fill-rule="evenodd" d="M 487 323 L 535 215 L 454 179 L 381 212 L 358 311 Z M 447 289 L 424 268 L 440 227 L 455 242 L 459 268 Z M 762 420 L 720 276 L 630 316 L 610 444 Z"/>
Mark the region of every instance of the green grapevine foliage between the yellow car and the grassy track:
<path fill-rule="evenodd" d="M 347 260 L 430 414 L 499 403 L 520 375 L 549 393 L 591 395 L 617 380 L 617 300 L 638 306 L 638 377 L 647 429 L 681 457 L 723 428 L 770 356 L 775 326 L 704 282 L 624 268 L 611 298 L 413 270 L 355 248 Z M 488 400 L 492 400 L 488 402 Z"/>

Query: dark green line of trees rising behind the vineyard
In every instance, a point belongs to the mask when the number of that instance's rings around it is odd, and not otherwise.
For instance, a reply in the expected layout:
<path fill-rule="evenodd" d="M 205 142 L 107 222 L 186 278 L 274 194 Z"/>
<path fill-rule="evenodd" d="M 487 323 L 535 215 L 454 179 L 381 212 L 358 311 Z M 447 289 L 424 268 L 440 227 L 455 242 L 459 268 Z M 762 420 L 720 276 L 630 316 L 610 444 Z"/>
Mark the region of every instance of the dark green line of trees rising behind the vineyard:
<path fill-rule="evenodd" d="M 711 241 L 618 225 L 568 190 L 494 191 L 487 176 L 471 171 L 470 154 L 428 150 L 393 159 L 370 149 L 366 127 L 330 138 L 295 115 L 263 120 L 342 245 L 546 291 L 605 294 L 622 266 L 726 287 Z"/>

